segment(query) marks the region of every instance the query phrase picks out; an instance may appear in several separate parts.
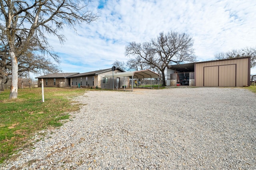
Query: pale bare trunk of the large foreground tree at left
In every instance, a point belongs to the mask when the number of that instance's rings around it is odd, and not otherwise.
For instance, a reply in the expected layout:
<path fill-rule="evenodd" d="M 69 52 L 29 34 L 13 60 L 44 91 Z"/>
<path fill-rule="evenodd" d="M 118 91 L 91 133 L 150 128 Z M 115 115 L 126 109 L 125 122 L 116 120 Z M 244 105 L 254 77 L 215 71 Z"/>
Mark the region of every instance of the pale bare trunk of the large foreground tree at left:
<path fill-rule="evenodd" d="M 10 50 L 12 60 L 12 85 L 9 99 L 18 98 L 18 61 L 13 51 Z"/>

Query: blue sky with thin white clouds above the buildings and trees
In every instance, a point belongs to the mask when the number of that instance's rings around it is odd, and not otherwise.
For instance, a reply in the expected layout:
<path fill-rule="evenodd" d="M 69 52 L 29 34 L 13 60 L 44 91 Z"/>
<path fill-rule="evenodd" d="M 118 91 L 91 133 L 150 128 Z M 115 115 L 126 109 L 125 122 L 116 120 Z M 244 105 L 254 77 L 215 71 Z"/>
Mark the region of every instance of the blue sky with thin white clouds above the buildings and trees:
<path fill-rule="evenodd" d="M 129 59 L 124 54 L 129 42 L 149 42 L 168 31 L 190 35 L 198 61 L 256 48 L 256 0 L 93 0 L 88 10 L 98 12 L 99 19 L 77 25 L 76 31 L 64 27 L 64 45 L 57 37 L 48 39 L 62 72 L 111 68 Z"/>

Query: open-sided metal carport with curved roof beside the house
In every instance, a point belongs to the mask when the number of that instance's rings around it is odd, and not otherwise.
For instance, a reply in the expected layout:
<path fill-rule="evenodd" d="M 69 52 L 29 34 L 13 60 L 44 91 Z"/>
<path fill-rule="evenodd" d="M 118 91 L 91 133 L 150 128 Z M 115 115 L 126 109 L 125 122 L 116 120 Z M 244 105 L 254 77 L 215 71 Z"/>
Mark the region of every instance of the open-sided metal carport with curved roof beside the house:
<path fill-rule="evenodd" d="M 130 72 L 118 72 L 113 74 L 107 74 L 104 77 L 130 77 L 132 80 L 135 78 L 158 78 L 158 89 L 159 89 L 159 79 L 160 75 L 152 72 L 151 70 L 139 70 L 139 71 L 130 71 Z M 150 81 L 150 88 L 151 88 L 151 81 Z M 125 87 L 124 87 L 125 88 Z M 133 81 L 132 81 L 132 90 L 133 90 Z"/>

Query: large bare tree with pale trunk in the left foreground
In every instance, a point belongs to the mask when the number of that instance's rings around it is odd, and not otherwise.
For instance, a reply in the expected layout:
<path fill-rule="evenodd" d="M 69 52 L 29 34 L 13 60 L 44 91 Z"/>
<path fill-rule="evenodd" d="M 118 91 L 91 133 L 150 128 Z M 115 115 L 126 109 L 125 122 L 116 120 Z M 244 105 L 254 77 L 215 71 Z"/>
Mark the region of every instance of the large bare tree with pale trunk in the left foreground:
<path fill-rule="evenodd" d="M 34 0 L 12 1 L 0 0 L 0 19 L 4 21 L 4 31 L 8 41 L 8 55 L 12 65 L 12 86 L 10 99 L 18 97 L 18 58 L 23 55 L 31 44 L 53 57 L 46 34 L 57 36 L 61 43 L 64 36 L 58 31 L 64 25 L 75 29 L 82 22 L 90 23 L 98 19 L 96 14 L 86 10 L 89 0 Z"/>

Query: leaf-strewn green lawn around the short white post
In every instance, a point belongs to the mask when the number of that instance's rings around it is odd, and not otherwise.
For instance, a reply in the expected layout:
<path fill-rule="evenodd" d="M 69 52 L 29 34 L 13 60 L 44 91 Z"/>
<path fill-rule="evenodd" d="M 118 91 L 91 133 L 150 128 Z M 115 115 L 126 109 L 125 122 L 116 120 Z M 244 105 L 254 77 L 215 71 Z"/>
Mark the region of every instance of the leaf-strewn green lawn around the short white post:
<path fill-rule="evenodd" d="M 85 89 L 42 88 L 18 89 L 18 99 L 9 100 L 10 90 L 0 92 L 0 164 L 21 147 L 33 134 L 49 127 L 59 127 L 68 113 L 78 111 L 80 104 L 69 98 L 82 95 Z"/>

